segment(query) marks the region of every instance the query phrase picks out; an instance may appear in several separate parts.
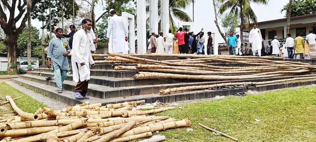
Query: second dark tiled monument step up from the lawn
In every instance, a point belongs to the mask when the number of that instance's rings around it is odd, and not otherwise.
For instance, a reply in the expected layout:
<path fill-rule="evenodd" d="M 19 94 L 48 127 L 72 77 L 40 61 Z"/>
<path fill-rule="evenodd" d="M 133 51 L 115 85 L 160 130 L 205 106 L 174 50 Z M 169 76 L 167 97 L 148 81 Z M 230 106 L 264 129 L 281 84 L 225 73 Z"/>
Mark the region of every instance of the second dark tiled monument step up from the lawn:
<path fill-rule="evenodd" d="M 174 88 L 174 87 L 183 87 L 183 86 L 199 86 L 199 85 L 211 85 L 211 84 L 220 84 L 228 82 L 260 82 L 260 81 L 270 81 L 270 80 L 281 80 L 294 78 L 297 76 L 284 76 L 284 77 L 271 77 L 264 79 L 249 79 L 249 80 L 223 80 L 223 81 L 204 81 L 204 82 L 190 82 L 190 83 L 173 83 L 173 84 L 153 84 L 145 86 L 124 86 L 124 87 L 107 87 L 100 86 L 96 84 L 91 84 L 89 82 L 88 95 L 94 96 L 96 98 L 115 98 L 115 97 L 126 97 L 126 96 L 135 96 L 143 94 L 153 94 L 158 93 L 161 89 Z M 302 76 L 312 76 L 312 75 L 300 75 Z M 30 74 L 24 74 L 19 76 L 22 79 L 31 80 L 34 82 L 46 84 L 49 86 L 56 87 L 54 80 L 47 81 L 45 77 L 35 76 Z M 63 88 L 68 91 L 73 91 L 75 89 L 76 82 L 73 81 L 64 81 Z"/>

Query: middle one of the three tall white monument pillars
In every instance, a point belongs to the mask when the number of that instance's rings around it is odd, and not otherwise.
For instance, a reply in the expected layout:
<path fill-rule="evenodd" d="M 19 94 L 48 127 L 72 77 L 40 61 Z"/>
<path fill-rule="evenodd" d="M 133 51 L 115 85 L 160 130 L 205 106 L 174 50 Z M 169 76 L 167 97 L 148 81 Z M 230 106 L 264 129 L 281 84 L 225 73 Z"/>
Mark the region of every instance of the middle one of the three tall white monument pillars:
<path fill-rule="evenodd" d="M 151 30 L 149 33 L 155 32 L 156 34 L 158 34 L 158 22 L 159 22 L 158 21 L 158 0 L 150 0 L 149 11 L 150 11 L 150 14 L 149 14 L 150 26 L 149 27 Z"/>

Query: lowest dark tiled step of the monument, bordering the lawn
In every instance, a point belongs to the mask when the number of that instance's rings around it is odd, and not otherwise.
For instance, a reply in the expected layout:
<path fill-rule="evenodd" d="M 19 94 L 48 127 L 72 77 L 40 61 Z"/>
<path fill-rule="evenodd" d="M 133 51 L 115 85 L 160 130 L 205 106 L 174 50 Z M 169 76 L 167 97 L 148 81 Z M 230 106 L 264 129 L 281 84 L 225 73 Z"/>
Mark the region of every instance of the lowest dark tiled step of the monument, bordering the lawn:
<path fill-rule="evenodd" d="M 22 86 L 29 87 L 34 91 L 38 91 L 41 94 L 47 95 L 51 98 L 55 98 L 57 100 L 62 101 L 63 103 L 75 105 L 78 103 L 82 103 L 83 101 L 75 100 L 72 96 L 71 92 L 64 91 L 62 94 L 56 93 L 56 87 L 44 85 L 37 82 L 32 82 L 29 80 L 24 80 L 21 78 L 14 78 L 11 79 L 13 82 L 18 83 Z M 194 100 L 194 99 L 201 99 L 201 98 L 213 98 L 215 96 L 227 96 L 233 95 L 237 92 L 246 92 L 247 90 L 255 90 L 255 91 L 266 91 L 266 90 L 273 90 L 273 89 L 282 89 L 288 87 L 295 87 L 295 86 L 305 86 L 316 84 L 316 80 L 309 80 L 309 81 L 301 81 L 301 82 L 288 82 L 288 83 L 276 83 L 276 84 L 268 84 L 268 85 L 258 85 L 255 87 L 249 88 L 235 88 L 235 89 L 228 89 L 228 90 L 199 90 L 199 91 L 190 91 L 190 92 L 179 92 L 179 93 L 172 93 L 168 95 L 159 95 L 158 93 L 155 94 L 147 94 L 147 95 L 137 95 L 137 96 L 128 96 L 128 97 L 117 97 L 117 98 L 107 98 L 107 99 L 98 99 L 90 97 L 88 100 L 91 104 L 93 103 L 102 103 L 102 105 L 109 104 L 109 103 L 122 103 L 124 101 L 137 101 L 137 100 L 145 100 L 146 103 L 154 103 L 156 100 L 159 100 L 163 103 L 172 103 L 172 102 L 179 102 L 185 100 Z"/>

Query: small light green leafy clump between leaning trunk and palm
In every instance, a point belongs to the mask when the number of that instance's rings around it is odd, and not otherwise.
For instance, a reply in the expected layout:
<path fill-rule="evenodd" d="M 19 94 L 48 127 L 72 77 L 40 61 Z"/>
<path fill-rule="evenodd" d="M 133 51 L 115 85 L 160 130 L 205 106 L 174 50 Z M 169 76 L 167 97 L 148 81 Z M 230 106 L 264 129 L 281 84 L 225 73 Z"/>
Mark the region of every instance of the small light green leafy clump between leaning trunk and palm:
<path fill-rule="evenodd" d="M 236 33 L 236 28 L 238 26 L 237 17 L 233 13 L 226 13 L 221 16 L 222 27 L 227 35 L 229 32 Z"/>

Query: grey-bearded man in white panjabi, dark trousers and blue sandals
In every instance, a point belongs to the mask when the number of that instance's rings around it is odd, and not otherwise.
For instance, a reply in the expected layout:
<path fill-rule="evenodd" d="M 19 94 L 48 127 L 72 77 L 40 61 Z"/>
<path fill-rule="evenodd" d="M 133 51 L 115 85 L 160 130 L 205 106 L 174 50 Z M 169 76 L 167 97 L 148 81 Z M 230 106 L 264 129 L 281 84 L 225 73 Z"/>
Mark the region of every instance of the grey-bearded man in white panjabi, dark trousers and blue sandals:
<path fill-rule="evenodd" d="M 90 37 L 92 21 L 83 19 L 82 29 L 74 34 L 72 51 L 71 51 L 71 66 L 73 71 L 73 80 L 77 82 L 74 90 L 75 99 L 89 99 L 86 97 L 88 91 L 88 81 L 90 80 L 90 68 L 94 66 L 94 61 L 90 52 Z"/>

